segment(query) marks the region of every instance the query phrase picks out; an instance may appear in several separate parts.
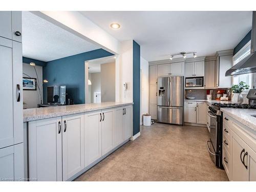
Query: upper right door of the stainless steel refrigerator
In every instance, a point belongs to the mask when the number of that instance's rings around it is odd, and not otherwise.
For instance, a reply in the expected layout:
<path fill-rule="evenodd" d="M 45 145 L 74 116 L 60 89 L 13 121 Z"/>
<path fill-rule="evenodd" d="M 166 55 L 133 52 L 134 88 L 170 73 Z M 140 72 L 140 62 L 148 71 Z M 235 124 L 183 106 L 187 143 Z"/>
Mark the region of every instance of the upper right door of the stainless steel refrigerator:
<path fill-rule="evenodd" d="M 170 106 L 183 106 L 183 76 L 169 78 Z"/>

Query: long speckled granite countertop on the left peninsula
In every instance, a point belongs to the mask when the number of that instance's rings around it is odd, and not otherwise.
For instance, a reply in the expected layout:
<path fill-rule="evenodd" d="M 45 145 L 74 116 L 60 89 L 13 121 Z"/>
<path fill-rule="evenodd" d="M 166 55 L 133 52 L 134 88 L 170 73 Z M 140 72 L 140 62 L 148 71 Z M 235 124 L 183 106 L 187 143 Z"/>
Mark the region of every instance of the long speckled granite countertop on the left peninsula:
<path fill-rule="evenodd" d="M 64 106 L 50 106 L 47 108 L 33 108 L 23 110 L 23 122 L 35 121 L 39 119 L 47 119 L 52 117 L 59 117 L 64 115 L 72 115 L 77 113 L 84 113 L 90 111 L 103 110 L 108 108 L 115 108 L 118 106 L 133 104 L 133 102 L 101 102 L 101 103 L 87 103 L 74 104 Z"/>

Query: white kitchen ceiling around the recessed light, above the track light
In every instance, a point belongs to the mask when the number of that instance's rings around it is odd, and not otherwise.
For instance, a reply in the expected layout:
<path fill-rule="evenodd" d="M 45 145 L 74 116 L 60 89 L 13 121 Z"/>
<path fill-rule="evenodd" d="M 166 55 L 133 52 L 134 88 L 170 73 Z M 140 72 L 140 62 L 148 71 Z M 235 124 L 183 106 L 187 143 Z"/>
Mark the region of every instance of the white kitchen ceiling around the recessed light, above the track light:
<path fill-rule="evenodd" d="M 233 49 L 251 29 L 251 11 L 81 11 L 118 40 L 134 39 L 148 61 L 196 51 L 211 56 Z M 119 23 L 120 29 L 111 29 Z"/>

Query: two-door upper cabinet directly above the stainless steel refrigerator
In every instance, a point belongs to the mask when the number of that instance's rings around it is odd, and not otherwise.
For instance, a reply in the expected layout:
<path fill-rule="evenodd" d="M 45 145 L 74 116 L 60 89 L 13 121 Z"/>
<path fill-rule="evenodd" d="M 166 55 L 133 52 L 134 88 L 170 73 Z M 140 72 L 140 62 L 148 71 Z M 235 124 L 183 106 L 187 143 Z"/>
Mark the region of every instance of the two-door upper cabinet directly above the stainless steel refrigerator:
<path fill-rule="evenodd" d="M 173 62 L 157 66 L 158 76 L 184 75 L 184 62 Z"/>

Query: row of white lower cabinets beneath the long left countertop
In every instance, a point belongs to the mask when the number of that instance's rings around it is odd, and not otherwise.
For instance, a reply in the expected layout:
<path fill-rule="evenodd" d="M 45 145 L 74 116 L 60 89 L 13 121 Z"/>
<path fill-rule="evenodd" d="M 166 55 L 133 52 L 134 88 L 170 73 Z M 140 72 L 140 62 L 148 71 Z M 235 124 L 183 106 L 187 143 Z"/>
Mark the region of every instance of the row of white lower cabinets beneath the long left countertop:
<path fill-rule="evenodd" d="M 29 178 L 70 180 L 131 136 L 132 105 L 31 121 Z M 0 150 L 0 162 L 8 161 L 5 153 Z"/>

